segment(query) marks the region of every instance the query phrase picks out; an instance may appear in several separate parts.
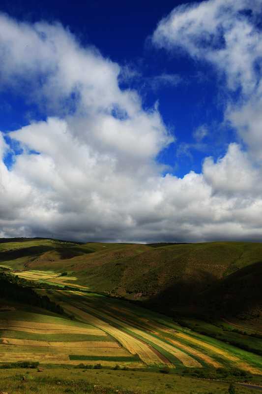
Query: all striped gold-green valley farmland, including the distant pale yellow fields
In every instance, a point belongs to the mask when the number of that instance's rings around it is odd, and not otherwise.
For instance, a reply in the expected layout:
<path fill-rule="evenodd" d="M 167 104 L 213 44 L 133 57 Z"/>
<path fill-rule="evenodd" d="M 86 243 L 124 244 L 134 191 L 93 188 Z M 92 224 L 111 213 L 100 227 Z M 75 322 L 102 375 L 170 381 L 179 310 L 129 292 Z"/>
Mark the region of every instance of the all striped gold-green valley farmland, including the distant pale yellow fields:
<path fill-rule="evenodd" d="M 47 242 L 45 247 L 50 244 Z M 8 255 L 9 251 L 5 253 Z M 17 253 L 16 249 L 11 253 Z M 44 252 L 47 253 L 50 256 L 51 252 Z M 37 259 L 40 261 L 41 255 Z M 43 259 L 39 269 L 21 269 L 19 257 L 18 260 L 1 261 L 4 275 L 25 288 L 29 286 L 40 299 L 48 297 L 60 310 L 47 310 L 48 305 L 47 309 L 38 304 L 29 306 L 20 300 L 0 301 L 0 369 L 8 363 L 30 361 L 39 362 L 41 368 L 57 370 L 99 365 L 106 369 L 150 373 L 163 370 L 197 377 L 217 376 L 216 371 L 220 370 L 240 371 L 243 376 L 253 375 L 261 381 L 259 337 L 254 338 L 257 353 L 247 351 L 220 340 L 219 335 L 199 332 L 199 325 L 214 327 L 206 322 L 188 318 L 186 324 L 180 324 L 134 301 L 91 292 L 79 279 L 78 271 L 68 269 L 69 263 L 67 271 L 62 272 L 60 267 L 56 269 L 56 261 L 51 264 Z M 243 343 L 246 340 L 243 335 L 235 335 Z"/>

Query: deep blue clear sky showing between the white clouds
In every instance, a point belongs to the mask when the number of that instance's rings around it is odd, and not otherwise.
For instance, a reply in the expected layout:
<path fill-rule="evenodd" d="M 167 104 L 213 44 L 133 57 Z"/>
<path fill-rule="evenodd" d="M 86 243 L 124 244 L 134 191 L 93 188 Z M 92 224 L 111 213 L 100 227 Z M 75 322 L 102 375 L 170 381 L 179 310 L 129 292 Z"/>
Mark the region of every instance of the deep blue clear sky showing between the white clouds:
<path fill-rule="evenodd" d="M 217 75 L 210 65 L 196 62 L 182 51 L 175 55 L 159 51 L 150 43 L 149 37 L 157 23 L 182 3 L 163 1 L 152 6 L 151 1 L 77 1 L 74 4 L 47 1 L 36 7 L 34 1 L 5 1 L 1 10 L 30 23 L 59 21 L 76 34 L 84 46 L 95 45 L 103 56 L 140 73 L 139 77 L 121 85 L 141 92 L 145 108 L 159 102 L 159 111 L 174 133 L 176 144 L 162 151 L 158 160 L 171 166 L 169 172 L 183 176 L 191 169 L 201 172 L 204 157 L 223 155 L 234 136 L 227 128 L 223 128 L 218 137 L 212 136 L 212 129 L 223 121 L 224 102 L 219 96 Z M 179 79 L 174 85 L 163 80 L 152 87 L 153 79 L 163 74 L 177 75 Z M 4 102 L 0 121 L 2 131 L 25 126 L 29 116 L 34 119 L 46 117 L 32 103 L 27 105 L 17 92 L 4 91 L 1 100 Z M 195 142 L 194 131 L 203 124 L 209 130 L 208 143 L 199 149 L 189 148 L 188 145 Z M 10 165 L 10 155 L 6 163 Z"/>

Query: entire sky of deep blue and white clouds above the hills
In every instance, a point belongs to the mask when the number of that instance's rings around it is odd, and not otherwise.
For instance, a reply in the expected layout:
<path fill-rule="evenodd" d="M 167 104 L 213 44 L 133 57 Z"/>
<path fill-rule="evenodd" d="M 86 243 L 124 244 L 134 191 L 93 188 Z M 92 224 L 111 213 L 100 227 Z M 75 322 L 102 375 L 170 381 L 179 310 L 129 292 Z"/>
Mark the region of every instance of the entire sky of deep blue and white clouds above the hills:
<path fill-rule="evenodd" d="M 0 234 L 260 239 L 261 6 L 2 1 Z"/>

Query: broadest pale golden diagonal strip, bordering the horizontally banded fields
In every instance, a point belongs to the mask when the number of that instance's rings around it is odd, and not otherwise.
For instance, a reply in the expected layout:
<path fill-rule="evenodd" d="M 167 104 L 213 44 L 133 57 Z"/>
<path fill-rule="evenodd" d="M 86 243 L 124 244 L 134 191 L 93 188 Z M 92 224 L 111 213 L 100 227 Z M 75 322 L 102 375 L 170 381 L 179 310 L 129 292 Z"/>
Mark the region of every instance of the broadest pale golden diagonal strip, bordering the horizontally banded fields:
<path fill-rule="evenodd" d="M 79 307 L 71 305 L 70 303 L 72 303 L 72 301 L 70 300 L 70 297 L 68 297 L 67 294 L 63 295 L 67 298 L 65 302 L 61 302 L 65 310 L 73 313 L 75 316 L 78 316 L 82 321 L 87 322 L 88 324 L 93 324 L 94 326 L 112 335 L 131 354 L 138 354 L 140 359 L 147 365 L 161 365 L 163 363 L 171 364 L 168 360 L 164 360 L 160 354 L 158 355 L 157 352 L 155 352 L 146 343 L 132 337 L 118 328 L 111 326 L 103 320 L 93 316 L 92 314 L 84 312 Z"/>

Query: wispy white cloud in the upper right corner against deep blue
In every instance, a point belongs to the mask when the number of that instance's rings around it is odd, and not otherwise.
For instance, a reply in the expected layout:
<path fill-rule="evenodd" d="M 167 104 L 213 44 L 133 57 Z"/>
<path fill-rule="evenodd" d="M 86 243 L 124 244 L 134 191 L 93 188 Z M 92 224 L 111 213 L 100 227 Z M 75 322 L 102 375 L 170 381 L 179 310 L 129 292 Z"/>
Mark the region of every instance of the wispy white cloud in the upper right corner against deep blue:
<path fill-rule="evenodd" d="M 183 4 L 160 21 L 152 37 L 158 47 L 182 48 L 215 67 L 230 97 L 225 116 L 257 160 L 262 160 L 261 9 L 261 0 Z"/>

